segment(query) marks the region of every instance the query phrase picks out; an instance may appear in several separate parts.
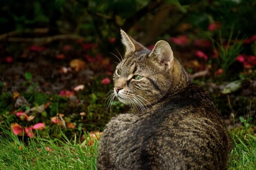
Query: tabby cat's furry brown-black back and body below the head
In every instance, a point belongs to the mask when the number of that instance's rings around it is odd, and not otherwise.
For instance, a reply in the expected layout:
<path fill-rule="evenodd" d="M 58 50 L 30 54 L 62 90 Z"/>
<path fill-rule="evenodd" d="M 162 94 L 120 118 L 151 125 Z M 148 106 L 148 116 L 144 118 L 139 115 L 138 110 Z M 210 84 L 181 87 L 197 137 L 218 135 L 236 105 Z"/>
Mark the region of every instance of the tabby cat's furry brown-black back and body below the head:
<path fill-rule="evenodd" d="M 106 148 L 99 148 L 104 150 L 99 160 L 102 169 L 223 169 L 226 155 L 218 153 L 227 150 L 226 134 L 207 116 L 196 115 L 206 110 L 200 102 L 204 100 L 211 102 L 203 88 L 191 84 L 191 88 L 166 97 L 143 114 L 113 118 L 102 136 L 108 141 L 101 140 Z M 217 111 L 214 105 L 211 109 Z"/>

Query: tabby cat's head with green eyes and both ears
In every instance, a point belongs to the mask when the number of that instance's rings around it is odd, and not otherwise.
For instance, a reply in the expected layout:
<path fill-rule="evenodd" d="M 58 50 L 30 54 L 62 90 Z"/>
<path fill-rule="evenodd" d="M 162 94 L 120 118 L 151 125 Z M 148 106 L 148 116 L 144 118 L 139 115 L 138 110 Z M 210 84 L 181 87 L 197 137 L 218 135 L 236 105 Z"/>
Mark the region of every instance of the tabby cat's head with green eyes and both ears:
<path fill-rule="evenodd" d="M 123 60 L 113 75 L 115 96 L 124 104 L 144 108 L 158 102 L 173 82 L 173 51 L 166 41 L 158 41 L 152 51 L 121 30 L 126 47 Z"/>

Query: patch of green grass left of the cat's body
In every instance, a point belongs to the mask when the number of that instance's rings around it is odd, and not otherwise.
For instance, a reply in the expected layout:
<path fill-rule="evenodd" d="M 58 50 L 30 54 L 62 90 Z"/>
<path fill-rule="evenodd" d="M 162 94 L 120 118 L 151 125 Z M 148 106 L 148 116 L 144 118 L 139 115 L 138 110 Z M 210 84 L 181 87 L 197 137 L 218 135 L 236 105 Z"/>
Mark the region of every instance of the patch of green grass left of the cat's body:
<path fill-rule="evenodd" d="M 85 140 L 42 139 L 39 136 L 21 142 L 16 135 L 4 130 L 0 136 L 1 170 L 94 170 L 96 169 L 97 144 L 88 147 Z M 47 151 L 46 147 L 51 148 Z"/>

